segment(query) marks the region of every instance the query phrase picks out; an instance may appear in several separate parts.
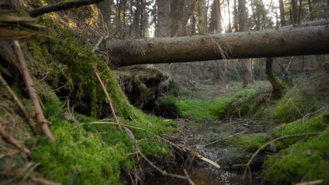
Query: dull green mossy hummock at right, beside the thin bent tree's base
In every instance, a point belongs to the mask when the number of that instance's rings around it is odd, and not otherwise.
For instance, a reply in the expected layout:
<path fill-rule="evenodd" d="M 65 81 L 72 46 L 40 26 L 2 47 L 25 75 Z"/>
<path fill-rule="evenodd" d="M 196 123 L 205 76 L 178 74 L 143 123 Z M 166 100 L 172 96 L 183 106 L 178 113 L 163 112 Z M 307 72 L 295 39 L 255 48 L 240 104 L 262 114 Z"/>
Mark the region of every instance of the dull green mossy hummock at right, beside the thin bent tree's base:
<path fill-rule="evenodd" d="M 273 120 L 276 123 L 291 122 L 311 111 L 315 111 L 314 101 L 305 97 L 300 90 L 292 89 L 288 90 L 273 110 Z"/>

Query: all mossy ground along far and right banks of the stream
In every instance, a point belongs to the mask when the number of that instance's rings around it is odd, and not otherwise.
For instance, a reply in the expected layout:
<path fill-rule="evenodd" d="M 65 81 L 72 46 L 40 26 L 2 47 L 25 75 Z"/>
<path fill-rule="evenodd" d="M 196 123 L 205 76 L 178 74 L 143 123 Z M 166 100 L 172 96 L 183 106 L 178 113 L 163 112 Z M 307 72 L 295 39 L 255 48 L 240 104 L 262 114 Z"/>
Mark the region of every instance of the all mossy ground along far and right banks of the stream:
<path fill-rule="evenodd" d="M 261 119 L 255 124 L 264 125 L 268 128 L 268 132 L 249 133 L 236 137 L 228 137 L 229 134 L 219 136 L 214 134 L 215 139 L 209 136 L 212 133 L 205 134 L 205 139 L 210 139 L 206 143 L 220 139 L 221 147 L 236 149 L 239 151 L 238 153 L 245 153 L 245 156 L 252 156 L 254 151 L 271 139 L 321 132 L 319 135 L 280 139 L 266 146 L 264 151 L 278 153 L 267 156 L 263 165 L 263 175 L 264 180 L 271 184 L 295 184 L 302 180 L 313 181 L 316 179 L 323 179 L 324 184 L 328 184 L 329 111 L 326 108 L 314 114 L 315 111 L 325 106 L 324 100 L 326 99 L 315 95 L 310 96 L 305 92 L 305 89 L 302 88 L 288 88 L 282 98 L 270 100 L 269 93 L 262 94 L 257 90 L 243 90 L 236 95 L 219 97 L 211 101 L 168 97 L 162 103 L 165 106 L 175 107 L 179 116 L 195 121 L 202 121 L 205 118 L 216 120 L 231 116 L 246 119 L 254 116 L 260 117 Z M 259 155 L 265 155 L 264 151 L 261 151 Z M 232 158 L 235 157 L 232 156 Z M 226 162 L 221 163 L 225 165 Z"/>

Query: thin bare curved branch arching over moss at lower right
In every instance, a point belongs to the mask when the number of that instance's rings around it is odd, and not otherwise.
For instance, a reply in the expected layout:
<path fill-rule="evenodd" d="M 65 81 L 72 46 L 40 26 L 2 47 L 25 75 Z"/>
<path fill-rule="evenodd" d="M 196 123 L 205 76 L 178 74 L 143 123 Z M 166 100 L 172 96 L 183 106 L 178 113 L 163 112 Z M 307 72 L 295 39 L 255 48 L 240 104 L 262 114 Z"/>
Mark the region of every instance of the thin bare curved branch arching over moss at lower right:
<path fill-rule="evenodd" d="M 328 131 L 328 130 L 325 130 Z M 323 131 L 323 132 L 325 132 Z M 252 163 L 252 160 L 254 160 L 254 158 L 257 156 L 257 154 L 259 153 L 259 151 L 261 151 L 262 149 L 264 149 L 267 145 L 271 144 L 272 142 L 276 142 L 280 139 L 285 139 L 287 137 L 297 137 L 297 136 L 303 136 L 303 135 L 319 135 L 323 132 L 310 132 L 310 133 L 303 133 L 303 134 L 296 134 L 296 135 L 285 135 L 282 137 L 278 137 L 276 139 L 273 139 L 269 142 L 267 142 L 266 144 L 264 144 L 263 146 L 260 146 L 259 149 L 257 151 L 254 152 L 254 154 L 252 155 L 252 157 L 250 158 L 250 160 L 248 160 L 248 163 L 246 164 L 238 164 L 238 165 L 233 165 L 233 166 L 245 166 L 245 172 L 243 174 L 243 179 L 245 179 L 245 175 L 247 174 L 247 170 L 249 169 L 249 173 L 250 173 L 250 177 L 251 177 L 251 170 L 250 170 L 250 164 Z"/>

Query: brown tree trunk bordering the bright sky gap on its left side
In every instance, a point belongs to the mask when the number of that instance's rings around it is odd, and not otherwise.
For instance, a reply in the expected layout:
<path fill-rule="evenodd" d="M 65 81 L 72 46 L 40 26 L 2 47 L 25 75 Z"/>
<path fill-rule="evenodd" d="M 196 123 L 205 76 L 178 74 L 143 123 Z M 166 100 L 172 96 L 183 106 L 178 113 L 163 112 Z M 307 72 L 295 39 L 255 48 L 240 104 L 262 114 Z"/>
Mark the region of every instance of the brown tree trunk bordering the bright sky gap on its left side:
<path fill-rule="evenodd" d="M 209 23 L 209 34 L 221 33 L 221 4 L 214 0 L 212 4 L 212 17 Z"/>

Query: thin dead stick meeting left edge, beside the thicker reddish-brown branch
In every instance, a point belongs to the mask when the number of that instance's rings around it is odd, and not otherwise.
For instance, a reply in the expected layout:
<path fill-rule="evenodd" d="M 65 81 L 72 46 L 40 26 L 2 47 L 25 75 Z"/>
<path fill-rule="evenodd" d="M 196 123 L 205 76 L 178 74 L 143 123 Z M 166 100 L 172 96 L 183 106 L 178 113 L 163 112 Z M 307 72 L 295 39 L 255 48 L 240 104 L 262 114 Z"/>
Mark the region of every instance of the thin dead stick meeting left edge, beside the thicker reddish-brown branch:
<path fill-rule="evenodd" d="M 22 112 L 22 115 L 25 117 L 27 123 L 29 123 L 29 125 L 32 128 L 34 134 L 35 135 L 38 135 L 39 132 L 38 132 L 37 128 L 35 128 L 34 121 L 29 116 L 29 114 L 27 113 L 27 111 L 26 111 L 24 105 L 22 104 L 22 102 L 20 102 L 20 100 L 15 95 L 15 93 L 13 92 L 13 90 L 11 90 L 11 87 L 8 85 L 8 83 L 5 81 L 5 79 L 1 76 L 1 74 L 0 74 L 0 82 L 2 83 L 2 85 L 5 86 L 6 90 L 11 95 L 11 99 L 16 103 L 16 105 L 18 106 L 18 109 L 20 109 L 20 111 Z"/>

